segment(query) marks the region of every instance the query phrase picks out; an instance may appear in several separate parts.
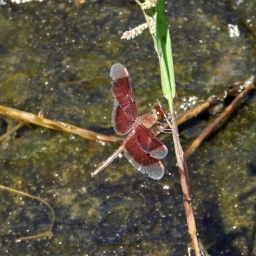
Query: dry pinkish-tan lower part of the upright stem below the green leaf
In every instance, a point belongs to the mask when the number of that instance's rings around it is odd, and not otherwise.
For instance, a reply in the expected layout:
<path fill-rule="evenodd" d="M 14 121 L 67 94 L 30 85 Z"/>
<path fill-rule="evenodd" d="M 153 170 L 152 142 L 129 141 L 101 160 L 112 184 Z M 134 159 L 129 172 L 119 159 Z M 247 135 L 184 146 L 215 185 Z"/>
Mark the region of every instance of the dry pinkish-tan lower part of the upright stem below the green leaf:
<path fill-rule="evenodd" d="M 173 106 L 173 109 L 174 109 L 174 106 Z M 188 177 L 186 175 L 184 155 L 180 145 L 179 136 L 177 136 L 177 134 L 179 134 L 179 131 L 178 131 L 175 113 L 172 114 L 172 120 L 173 121 L 169 125 L 170 127 L 172 127 L 172 131 L 173 131 L 173 144 L 175 148 L 177 164 L 179 167 L 180 184 L 181 184 L 183 198 L 184 198 L 184 207 L 186 211 L 189 235 L 191 236 L 193 248 L 195 250 L 196 256 L 201 256 L 198 239 L 196 236 L 196 222 L 195 222 L 194 212 L 191 206 L 191 198 L 189 195 Z"/>

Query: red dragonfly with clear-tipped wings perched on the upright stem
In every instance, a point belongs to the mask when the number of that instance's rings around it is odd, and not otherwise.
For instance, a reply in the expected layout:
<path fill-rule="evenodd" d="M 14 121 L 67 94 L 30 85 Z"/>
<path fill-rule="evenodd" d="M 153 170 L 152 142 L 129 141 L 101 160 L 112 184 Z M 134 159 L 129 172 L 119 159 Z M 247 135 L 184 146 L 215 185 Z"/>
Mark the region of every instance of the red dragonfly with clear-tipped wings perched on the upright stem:
<path fill-rule="evenodd" d="M 156 124 L 157 117 L 163 117 L 163 109 L 155 107 L 153 114 L 138 116 L 137 106 L 132 93 L 131 79 L 122 64 L 114 64 L 110 70 L 113 79 L 112 92 L 115 97 L 112 123 L 117 134 L 128 134 L 122 145 L 92 173 L 101 172 L 123 150 L 128 161 L 141 173 L 159 180 L 164 175 L 163 163 L 168 149 L 164 143 L 148 129 Z"/>

